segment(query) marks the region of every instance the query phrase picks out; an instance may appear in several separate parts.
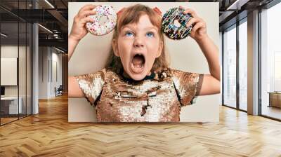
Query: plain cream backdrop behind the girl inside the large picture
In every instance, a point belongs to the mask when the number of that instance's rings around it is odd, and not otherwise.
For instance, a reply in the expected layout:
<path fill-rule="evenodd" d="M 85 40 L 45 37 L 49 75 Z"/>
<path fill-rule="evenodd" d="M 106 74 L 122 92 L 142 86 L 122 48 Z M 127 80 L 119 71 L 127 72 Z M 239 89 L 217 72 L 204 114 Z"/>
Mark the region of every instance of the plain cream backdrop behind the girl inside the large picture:
<path fill-rule="evenodd" d="M 69 33 L 72 28 L 74 15 L 85 4 L 109 4 L 115 11 L 133 3 L 69 3 Z M 134 3 L 136 4 L 136 3 Z M 169 8 L 185 6 L 194 9 L 197 14 L 207 22 L 207 31 L 211 39 L 218 46 L 218 3 L 142 3 L 154 8 L 157 6 L 164 14 Z M 87 34 L 77 46 L 74 55 L 69 62 L 69 75 L 86 74 L 98 71 L 105 66 L 105 61 L 110 50 L 112 32 L 105 36 L 93 36 Z M 209 67 L 200 47 L 190 37 L 181 41 L 173 41 L 166 38 L 166 47 L 171 57 L 171 68 L 183 71 L 209 74 Z M 181 121 L 218 121 L 218 105 L 221 95 L 209 95 L 198 97 L 196 104 L 183 107 Z M 73 121 L 96 121 L 96 111 L 86 99 L 68 100 L 68 120 Z"/>

